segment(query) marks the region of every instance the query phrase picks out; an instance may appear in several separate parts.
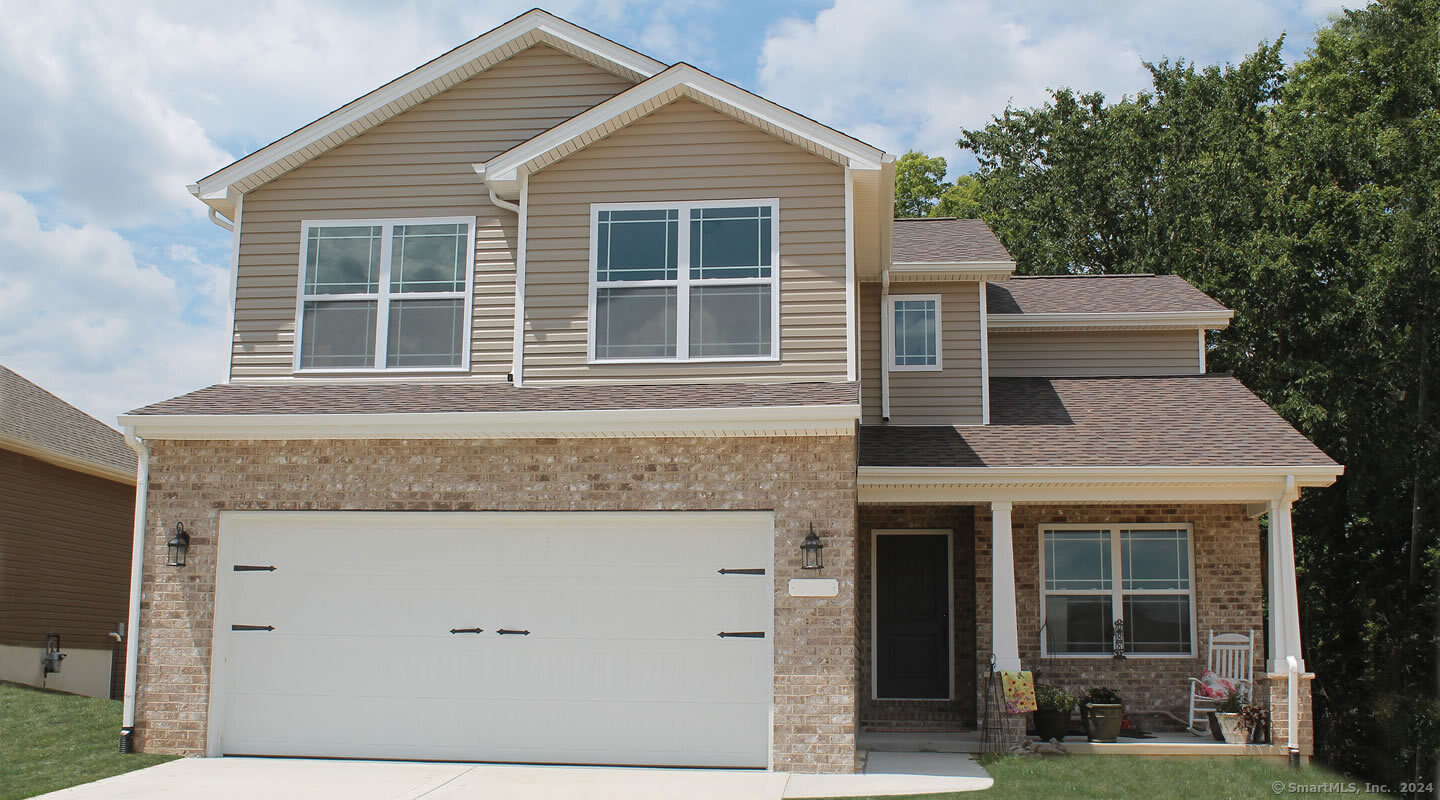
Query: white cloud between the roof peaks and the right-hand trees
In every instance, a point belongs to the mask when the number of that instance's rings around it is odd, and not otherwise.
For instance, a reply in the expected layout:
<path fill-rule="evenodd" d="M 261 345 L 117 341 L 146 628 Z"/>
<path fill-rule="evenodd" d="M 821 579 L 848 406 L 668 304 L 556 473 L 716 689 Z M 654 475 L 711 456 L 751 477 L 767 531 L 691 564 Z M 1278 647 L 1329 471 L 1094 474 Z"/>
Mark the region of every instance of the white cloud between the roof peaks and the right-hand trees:
<path fill-rule="evenodd" d="M 890 153 L 916 147 L 953 167 L 959 131 L 1007 104 L 1038 105 L 1061 86 L 1119 99 L 1149 86 L 1142 60 L 1238 60 L 1283 22 L 1247 0 L 838 0 L 770 30 L 759 91 Z"/>

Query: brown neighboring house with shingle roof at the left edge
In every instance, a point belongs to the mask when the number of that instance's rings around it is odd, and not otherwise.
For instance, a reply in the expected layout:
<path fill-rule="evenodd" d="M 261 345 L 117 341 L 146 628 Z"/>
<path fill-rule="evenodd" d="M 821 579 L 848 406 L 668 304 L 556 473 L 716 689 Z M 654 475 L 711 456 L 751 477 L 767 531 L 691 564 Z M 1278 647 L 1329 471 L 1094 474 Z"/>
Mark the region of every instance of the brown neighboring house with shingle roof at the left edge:
<path fill-rule="evenodd" d="M 0 367 L 0 681 L 120 698 L 134 527 L 124 436 Z"/>

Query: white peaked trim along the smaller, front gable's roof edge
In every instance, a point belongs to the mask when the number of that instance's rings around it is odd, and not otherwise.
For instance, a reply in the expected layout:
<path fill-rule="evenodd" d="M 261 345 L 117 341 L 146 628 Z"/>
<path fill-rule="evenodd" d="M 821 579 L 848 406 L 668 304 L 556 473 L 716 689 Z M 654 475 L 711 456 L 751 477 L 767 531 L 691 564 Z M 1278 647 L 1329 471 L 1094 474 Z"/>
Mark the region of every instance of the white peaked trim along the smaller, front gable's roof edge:
<path fill-rule="evenodd" d="M 523 176 L 537 173 L 680 98 L 708 105 L 851 168 L 878 170 L 890 158 L 874 145 L 680 62 L 484 164 L 475 164 L 475 171 L 498 194 L 514 199 Z"/>

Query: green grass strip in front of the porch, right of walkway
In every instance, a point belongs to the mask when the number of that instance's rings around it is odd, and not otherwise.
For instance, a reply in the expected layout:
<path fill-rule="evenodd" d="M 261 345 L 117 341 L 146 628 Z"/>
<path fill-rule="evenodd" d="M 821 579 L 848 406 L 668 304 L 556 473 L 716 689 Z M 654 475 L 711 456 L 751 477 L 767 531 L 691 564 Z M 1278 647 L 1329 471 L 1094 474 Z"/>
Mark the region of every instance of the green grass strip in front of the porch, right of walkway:
<path fill-rule="evenodd" d="M 1263 800 L 1266 797 L 1381 797 L 1367 794 L 1365 781 L 1351 781 L 1323 767 L 1292 773 L 1283 763 L 1263 758 L 1182 755 L 981 757 L 995 787 L 975 800 L 1045 797 L 1064 800 Z M 1276 791 L 1276 784 L 1280 791 Z M 1309 791 L 1316 784 L 1358 783 L 1356 791 Z M 1290 791 L 1289 784 L 1300 784 Z"/>

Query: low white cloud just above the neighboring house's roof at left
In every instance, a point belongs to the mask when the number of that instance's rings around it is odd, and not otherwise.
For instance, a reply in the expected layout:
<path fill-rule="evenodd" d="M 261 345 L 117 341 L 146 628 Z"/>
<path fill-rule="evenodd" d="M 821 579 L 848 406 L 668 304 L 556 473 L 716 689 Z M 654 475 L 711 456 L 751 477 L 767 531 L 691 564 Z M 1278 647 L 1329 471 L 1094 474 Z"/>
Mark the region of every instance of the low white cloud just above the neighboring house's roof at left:
<path fill-rule="evenodd" d="M 228 269 L 174 255 L 140 263 L 118 233 L 42 226 L 0 191 L 0 363 L 108 424 L 225 380 Z"/>

